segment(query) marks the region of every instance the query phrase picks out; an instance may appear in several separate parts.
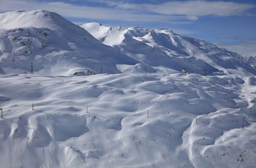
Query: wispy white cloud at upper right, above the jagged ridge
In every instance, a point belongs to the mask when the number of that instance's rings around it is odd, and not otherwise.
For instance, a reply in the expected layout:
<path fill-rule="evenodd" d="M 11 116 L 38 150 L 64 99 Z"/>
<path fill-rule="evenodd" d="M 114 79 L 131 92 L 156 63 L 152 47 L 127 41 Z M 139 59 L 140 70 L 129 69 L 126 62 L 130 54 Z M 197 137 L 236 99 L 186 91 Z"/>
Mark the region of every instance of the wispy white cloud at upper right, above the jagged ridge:
<path fill-rule="evenodd" d="M 185 15 L 190 20 L 198 16 L 232 16 L 245 15 L 246 10 L 255 8 L 255 5 L 223 1 L 173 1 L 163 4 L 130 4 L 123 2 L 106 1 L 109 6 L 121 9 L 150 11 L 165 15 Z"/>

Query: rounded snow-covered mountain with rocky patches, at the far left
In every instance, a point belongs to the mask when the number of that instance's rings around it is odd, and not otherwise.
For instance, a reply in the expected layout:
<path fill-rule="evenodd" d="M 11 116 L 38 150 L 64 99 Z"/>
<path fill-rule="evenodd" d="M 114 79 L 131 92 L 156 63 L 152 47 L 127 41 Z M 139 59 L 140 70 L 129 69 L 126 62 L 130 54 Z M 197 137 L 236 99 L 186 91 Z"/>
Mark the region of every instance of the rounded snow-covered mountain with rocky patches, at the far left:
<path fill-rule="evenodd" d="M 102 44 L 56 13 L 37 10 L 0 14 L 0 73 L 69 75 L 76 71 L 119 73 L 118 64 L 138 61 Z M 102 67 L 102 68 L 101 68 Z"/>

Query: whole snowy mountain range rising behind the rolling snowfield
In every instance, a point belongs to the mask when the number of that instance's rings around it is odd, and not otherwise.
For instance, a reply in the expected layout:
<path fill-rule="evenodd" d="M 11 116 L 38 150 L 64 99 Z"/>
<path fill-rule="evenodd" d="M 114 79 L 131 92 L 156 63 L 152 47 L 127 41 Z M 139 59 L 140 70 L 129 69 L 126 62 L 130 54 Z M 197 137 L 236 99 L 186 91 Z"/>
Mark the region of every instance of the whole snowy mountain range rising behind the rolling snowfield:
<path fill-rule="evenodd" d="M 50 75 L 87 69 L 96 74 L 143 72 L 145 66 L 148 72 L 255 72 L 237 53 L 168 29 L 112 29 L 95 22 L 80 26 L 43 10 L 0 14 L 0 73 L 30 71 L 31 61 L 34 71 Z"/>

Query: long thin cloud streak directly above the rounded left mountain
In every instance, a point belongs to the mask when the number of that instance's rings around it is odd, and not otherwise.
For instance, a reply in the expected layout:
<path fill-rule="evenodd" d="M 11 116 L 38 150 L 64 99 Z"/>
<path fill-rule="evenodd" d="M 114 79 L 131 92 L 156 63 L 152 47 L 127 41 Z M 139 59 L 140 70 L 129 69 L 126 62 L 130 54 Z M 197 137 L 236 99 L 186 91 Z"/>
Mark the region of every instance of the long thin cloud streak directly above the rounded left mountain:
<path fill-rule="evenodd" d="M 123 11 L 123 9 L 112 9 L 108 7 L 77 6 L 63 2 L 36 2 L 32 0 L 2 0 L 0 1 L 0 12 L 16 10 L 44 9 L 56 12 L 64 17 L 87 18 L 112 21 L 141 21 L 141 22 L 166 22 L 166 23 L 188 23 L 183 16 L 168 16 L 161 14 L 145 14 L 136 11 Z M 185 21 L 185 22 L 183 22 Z"/>

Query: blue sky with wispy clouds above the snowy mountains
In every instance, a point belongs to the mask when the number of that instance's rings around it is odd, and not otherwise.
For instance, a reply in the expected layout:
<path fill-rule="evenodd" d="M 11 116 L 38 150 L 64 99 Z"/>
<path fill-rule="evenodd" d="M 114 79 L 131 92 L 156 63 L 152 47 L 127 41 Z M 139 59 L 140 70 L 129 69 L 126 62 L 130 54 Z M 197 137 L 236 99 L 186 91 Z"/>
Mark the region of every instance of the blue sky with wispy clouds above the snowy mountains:
<path fill-rule="evenodd" d="M 0 0 L 0 12 L 44 9 L 74 23 L 168 28 L 243 55 L 256 55 L 256 1 Z"/>

